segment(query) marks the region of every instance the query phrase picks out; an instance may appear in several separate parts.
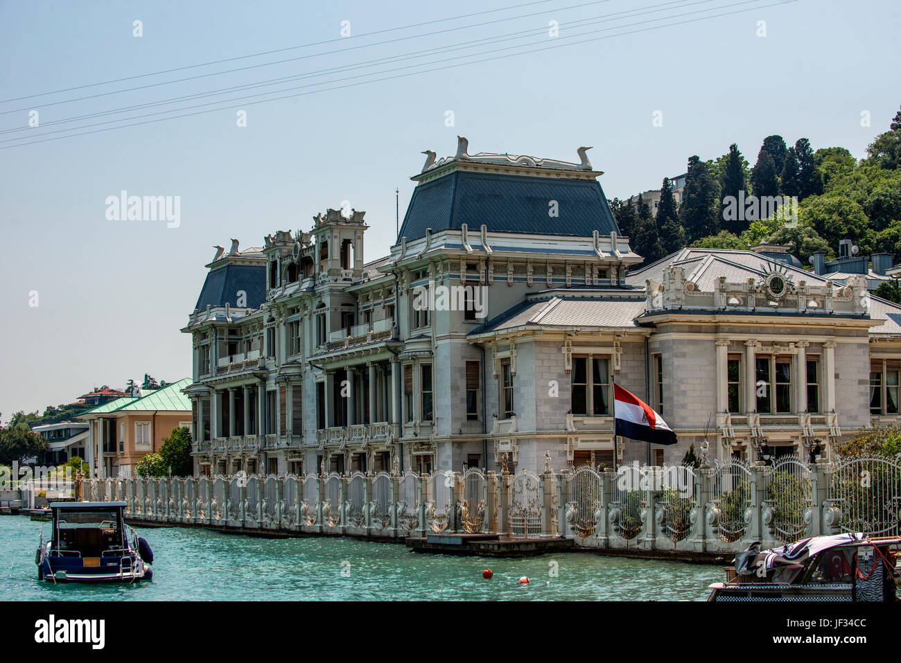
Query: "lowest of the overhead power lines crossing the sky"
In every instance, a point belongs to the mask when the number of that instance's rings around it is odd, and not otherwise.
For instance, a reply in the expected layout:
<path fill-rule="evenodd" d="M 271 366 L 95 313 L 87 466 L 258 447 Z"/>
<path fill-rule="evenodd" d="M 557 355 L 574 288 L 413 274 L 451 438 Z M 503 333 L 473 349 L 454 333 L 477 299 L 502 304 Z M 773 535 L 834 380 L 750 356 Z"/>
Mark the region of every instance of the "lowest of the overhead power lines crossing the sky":
<path fill-rule="evenodd" d="M 736 6 L 736 5 L 747 5 L 749 2 L 760 2 L 760 0 L 745 0 L 744 2 L 734 3 L 733 5 L 723 5 L 722 7 L 715 7 L 714 9 L 724 9 L 724 8 L 727 8 L 727 7 L 733 7 L 733 6 Z M 258 101 L 248 102 L 248 103 L 246 103 L 246 104 L 235 104 L 235 105 L 232 105 L 232 106 L 223 106 L 223 107 L 221 107 L 221 108 L 214 108 L 214 109 L 209 109 L 209 110 L 205 110 L 205 111 L 197 111 L 196 113 L 187 113 L 187 114 L 170 115 L 169 117 L 161 117 L 161 118 L 156 118 L 156 119 L 153 119 L 153 120 L 144 120 L 143 122 L 138 122 L 138 123 L 122 124 L 122 125 L 116 126 L 116 127 L 107 127 L 107 128 L 105 128 L 105 129 L 95 129 L 95 130 L 89 131 L 89 132 L 70 133 L 70 134 L 68 134 L 68 135 L 66 135 L 66 136 L 57 136 L 57 137 L 55 137 L 55 138 L 47 138 L 47 139 L 43 139 L 43 140 L 39 140 L 39 141 L 25 141 L 25 142 L 18 143 L 18 144 L 16 144 L 16 145 L 6 145 L 5 147 L 0 147 L 0 150 L 10 150 L 10 149 L 13 149 L 13 148 L 23 147 L 23 146 L 26 146 L 26 145 L 34 145 L 34 144 L 38 144 L 38 143 L 42 143 L 42 142 L 60 141 L 60 140 L 66 139 L 66 138 L 74 138 L 74 137 L 76 137 L 76 136 L 84 136 L 84 135 L 88 135 L 88 134 L 92 134 L 92 133 L 114 131 L 114 130 L 116 130 L 116 129 L 125 129 L 125 128 L 127 128 L 127 127 L 141 126 L 141 125 L 143 125 L 143 124 L 151 124 L 151 123 L 164 122 L 164 121 L 166 121 L 166 120 L 174 120 L 174 119 L 182 118 L 182 117 L 192 117 L 192 116 L 195 116 L 195 115 L 209 114 L 209 113 L 214 113 L 214 112 L 216 112 L 216 111 L 232 110 L 232 109 L 234 109 L 234 108 L 241 108 L 241 107 L 244 107 L 244 106 L 257 105 L 257 104 L 266 104 L 266 103 L 268 103 L 268 102 L 281 101 L 281 100 L 284 100 L 284 99 L 292 99 L 292 98 L 296 98 L 296 97 L 299 97 L 299 96 L 314 95 L 314 94 L 317 94 L 317 93 L 320 93 L 320 92 L 329 92 L 329 91 L 332 91 L 332 90 L 345 89 L 345 88 L 349 88 L 349 87 L 356 87 L 356 86 L 360 86 L 360 85 L 366 85 L 366 84 L 369 84 L 369 83 L 377 83 L 377 82 L 381 82 L 381 81 L 385 81 L 385 80 L 392 80 L 392 79 L 395 79 L 395 78 L 403 78 L 403 77 L 408 77 L 408 76 L 414 76 L 414 75 L 416 75 L 416 74 L 424 74 L 424 73 L 429 73 L 429 72 L 432 72 L 432 71 L 441 71 L 441 70 L 443 70 L 443 69 L 449 69 L 449 68 L 460 67 L 461 65 L 478 64 L 478 63 L 481 63 L 481 62 L 488 62 L 488 61 L 492 61 L 492 60 L 496 60 L 496 59 L 513 58 L 513 57 L 515 57 L 515 56 L 517 56 L 517 55 L 525 55 L 525 54 L 528 54 L 528 53 L 540 52 L 540 51 L 542 51 L 542 50 L 551 50 L 551 49 L 566 48 L 566 47 L 568 47 L 568 46 L 575 46 L 576 44 L 587 43 L 587 42 L 591 42 L 591 41 L 602 41 L 602 40 L 606 40 L 606 39 L 612 39 L 612 38 L 614 38 L 614 37 L 623 37 L 623 36 L 625 36 L 625 35 L 635 34 L 635 33 L 638 33 L 638 32 L 650 32 L 650 31 L 652 31 L 652 30 L 659 30 L 660 28 L 673 27 L 673 26 L 676 26 L 676 25 L 684 25 L 684 24 L 687 24 L 687 23 L 696 23 L 696 22 L 698 22 L 698 21 L 705 21 L 705 20 L 709 20 L 709 19 L 711 19 L 711 18 L 720 18 L 720 17 L 723 17 L 723 16 L 730 16 L 730 15 L 733 15 L 733 14 L 742 14 L 742 13 L 744 13 L 744 12 L 749 12 L 749 11 L 751 11 L 751 10 L 753 10 L 753 9 L 765 9 L 765 8 L 767 8 L 767 7 L 772 7 L 772 6 L 776 6 L 776 5 L 787 5 L 788 3 L 794 3 L 794 2 L 797 2 L 797 0 L 778 0 L 777 2 L 771 2 L 771 3 L 769 3 L 769 5 L 759 5 L 759 6 L 754 6 L 754 7 L 746 7 L 746 8 L 743 8 L 743 9 L 737 9 L 737 10 L 734 10 L 734 11 L 732 11 L 732 12 L 724 12 L 724 13 L 722 13 L 722 14 L 709 14 L 709 15 L 706 15 L 706 16 L 699 16 L 699 17 L 696 17 L 696 18 L 693 18 L 693 19 L 687 19 L 687 20 L 685 20 L 685 21 L 678 21 L 678 22 L 675 22 L 675 23 L 664 23 L 664 24 L 662 24 L 662 25 L 653 25 L 653 26 L 646 27 L 646 28 L 640 28 L 640 29 L 638 29 L 638 30 L 632 30 L 632 31 L 628 31 L 628 32 L 619 32 L 619 33 L 617 33 L 617 34 L 605 35 L 605 36 L 602 36 L 602 37 L 594 37 L 594 38 L 587 39 L 587 40 L 575 41 L 575 42 L 573 42 L 573 43 L 553 44 L 553 45 L 551 45 L 551 46 L 545 46 L 545 47 L 543 47 L 543 48 L 534 49 L 534 50 L 531 50 L 531 51 L 523 51 L 523 52 L 519 52 L 519 53 L 508 53 L 508 54 L 506 54 L 506 55 L 494 56 L 494 57 L 492 57 L 492 58 L 478 59 L 478 60 L 473 60 L 473 61 L 471 61 L 471 62 L 464 62 L 464 63 L 454 64 L 454 65 L 445 65 L 445 66 L 443 66 L 443 67 L 436 67 L 436 68 L 430 68 L 430 69 L 423 69 L 422 71 L 408 72 L 408 73 L 405 73 L 405 74 L 398 74 L 398 75 L 396 75 L 396 76 L 374 78 L 374 79 L 368 80 L 368 81 L 359 81 L 359 82 L 357 82 L 357 83 L 349 83 L 349 84 L 343 85 L 343 86 L 333 86 L 333 87 L 323 88 L 323 89 L 320 89 L 320 90 L 311 90 L 311 91 L 308 91 L 308 92 L 297 93 L 297 94 L 295 94 L 295 95 L 284 95 L 284 96 L 273 97 L 273 98 L 270 98 L 270 99 L 260 99 L 260 100 L 258 100 Z M 688 14 L 696 14 L 696 13 L 697 13 L 697 12 L 691 12 L 691 13 L 688 13 Z M 687 15 L 687 14 L 681 14 L 681 15 Z M 671 18 L 676 18 L 676 17 L 671 17 Z M 661 20 L 661 19 L 657 19 L 657 20 Z M 640 22 L 640 23 L 648 23 L 648 22 L 645 21 L 645 22 Z M 623 28 L 623 27 L 631 27 L 632 25 L 636 25 L 636 24 L 639 24 L 639 23 L 633 23 L 633 24 L 630 24 L 630 25 L 618 26 L 617 28 L 614 28 L 614 29 L 621 29 L 621 28 Z M 596 33 L 596 32 L 606 32 L 606 30 L 608 30 L 608 29 L 605 29 L 604 31 L 585 32 L 585 33 L 583 33 L 583 34 L 591 34 L 591 33 Z M 581 36 L 581 35 L 578 35 L 578 36 Z M 521 47 L 519 47 L 519 48 L 521 48 Z M 507 50 L 507 49 L 503 49 L 503 50 Z M 471 56 L 470 56 L 470 57 L 471 57 Z M 419 65 L 419 66 L 422 66 L 422 65 Z M 324 85 L 324 84 L 319 84 L 319 85 Z M 274 94 L 274 93 L 265 93 L 265 94 Z M 259 95 L 255 95 L 255 96 L 259 96 Z M 215 102 L 214 104 L 225 104 L 225 103 L 229 103 L 229 102 L 231 102 L 231 101 L 234 101 L 234 100 L 233 100 L 233 99 L 232 99 L 232 100 L 223 100 L 222 102 Z M 202 105 L 210 105 L 210 104 L 202 104 Z M 185 109 L 179 109 L 179 110 L 185 110 Z M 168 112 L 171 112 L 171 111 L 168 111 Z M 126 120 L 131 120 L 131 119 L 136 119 L 136 118 L 127 118 Z M 117 121 L 113 121 L 113 122 L 123 122 L 123 121 L 124 121 L 124 120 L 117 120 Z M 77 129 L 83 129 L 83 128 L 86 128 L 86 127 L 73 127 L 73 128 L 71 128 L 71 129 L 60 130 L 60 131 L 76 131 Z M 46 134 L 41 134 L 41 135 L 46 135 Z M 9 141 L 15 141 L 15 140 L 23 140 L 23 139 L 22 139 L 22 138 L 9 139 L 9 140 L 7 140 L 7 141 L 2 141 L 2 142 L 9 142 Z"/>

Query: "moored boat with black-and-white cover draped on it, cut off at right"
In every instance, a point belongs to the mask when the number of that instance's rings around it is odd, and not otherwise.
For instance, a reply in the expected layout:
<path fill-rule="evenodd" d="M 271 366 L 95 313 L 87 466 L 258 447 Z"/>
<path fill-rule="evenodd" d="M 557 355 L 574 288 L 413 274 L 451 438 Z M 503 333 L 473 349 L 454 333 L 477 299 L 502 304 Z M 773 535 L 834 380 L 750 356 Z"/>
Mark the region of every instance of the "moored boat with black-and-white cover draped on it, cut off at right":
<path fill-rule="evenodd" d="M 708 601 L 896 601 L 901 537 L 815 536 L 760 550 L 756 541 L 710 586 Z"/>

